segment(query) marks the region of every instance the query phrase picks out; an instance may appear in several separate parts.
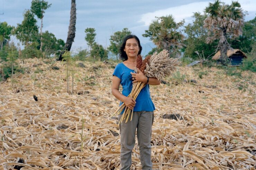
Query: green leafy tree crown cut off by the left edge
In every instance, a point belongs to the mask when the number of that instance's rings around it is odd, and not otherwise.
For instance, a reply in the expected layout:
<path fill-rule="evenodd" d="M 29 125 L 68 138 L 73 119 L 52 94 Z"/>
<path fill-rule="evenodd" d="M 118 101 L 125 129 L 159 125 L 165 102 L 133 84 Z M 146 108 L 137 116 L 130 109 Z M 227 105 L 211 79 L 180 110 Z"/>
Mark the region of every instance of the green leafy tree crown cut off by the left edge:
<path fill-rule="evenodd" d="M 7 22 L 0 22 L 0 49 L 3 48 L 4 41 L 9 41 L 13 27 L 8 25 Z"/>

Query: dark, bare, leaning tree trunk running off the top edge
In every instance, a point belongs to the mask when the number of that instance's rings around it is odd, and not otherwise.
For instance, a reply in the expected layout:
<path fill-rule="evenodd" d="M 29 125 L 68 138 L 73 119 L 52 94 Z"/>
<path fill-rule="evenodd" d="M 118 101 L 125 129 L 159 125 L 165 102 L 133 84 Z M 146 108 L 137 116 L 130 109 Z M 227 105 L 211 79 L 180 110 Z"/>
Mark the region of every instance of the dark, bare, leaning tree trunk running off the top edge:
<path fill-rule="evenodd" d="M 60 57 L 57 59 L 58 61 L 61 61 L 63 59 L 62 55 L 65 53 L 65 51 L 70 51 L 72 43 L 74 42 L 75 23 L 76 23 L 75 7 L 76 7 L 75 0 L 71 0 L 70 22 L 69 22 L 68 33 L 67 33 L 67 40 L 65 44 L 65 49 L 61 52 Z"/>

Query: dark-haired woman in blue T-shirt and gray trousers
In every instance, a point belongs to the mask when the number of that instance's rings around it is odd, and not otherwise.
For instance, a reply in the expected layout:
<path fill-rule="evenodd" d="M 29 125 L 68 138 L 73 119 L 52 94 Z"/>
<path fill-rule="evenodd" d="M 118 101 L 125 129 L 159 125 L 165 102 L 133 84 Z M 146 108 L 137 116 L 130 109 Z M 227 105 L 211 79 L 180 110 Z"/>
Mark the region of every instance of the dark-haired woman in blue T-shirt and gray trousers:
<path fill-rule="evenodd" d="M 130 169 L 131 152 L 135 145 L 136 129 L 142 169 L 152 169 L 150 142 L 155 106 L 150 97 L 149 84 L 159 85 L 160 82 L 156 78 L 146 77 L 139 69 L 138 73 L 134 73 L 136 58 L 141 53 L 141 50 L 142 48 L 137 36 L 126 36 L 119 54 L 123 62 L 116 66 L 112 78 L 112 94 L 118 100 L 124 102 L 128 108 L 134 109 L 132 120 L 127 123 L 122 122 L 119 126 L 121 133 L 120 170 Z M 145 82 L 147 85 L 140 91 L 135 101 L 127 96 L 131 92 L 132 83 L 136 82 Z M 120 84 L 123 87 L 122 93 L 119 92 Z M 121 114 L 118 115 L 119 121 Z"/>

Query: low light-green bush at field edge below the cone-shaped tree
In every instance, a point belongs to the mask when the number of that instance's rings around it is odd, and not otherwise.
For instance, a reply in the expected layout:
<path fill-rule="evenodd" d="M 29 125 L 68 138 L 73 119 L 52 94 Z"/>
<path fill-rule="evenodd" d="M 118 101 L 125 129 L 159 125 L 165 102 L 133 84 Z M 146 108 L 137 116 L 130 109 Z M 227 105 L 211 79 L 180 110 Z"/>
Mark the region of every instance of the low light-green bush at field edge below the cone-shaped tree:
<path fill-rule="evenodd" d="M 25 48 L 21 51 L 21 58 L 40 58 L 43 57 L 43 54 L 40 50 L 38 50 L 36 47 L 38 46 L 38 43 L 35 41 L 28 46 L 25 46 Z"/>

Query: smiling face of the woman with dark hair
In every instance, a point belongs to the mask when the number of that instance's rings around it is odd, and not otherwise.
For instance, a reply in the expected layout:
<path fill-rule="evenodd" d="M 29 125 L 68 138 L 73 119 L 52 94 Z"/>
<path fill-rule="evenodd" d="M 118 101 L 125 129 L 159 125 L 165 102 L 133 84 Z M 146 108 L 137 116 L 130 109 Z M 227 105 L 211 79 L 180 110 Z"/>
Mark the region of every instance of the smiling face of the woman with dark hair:
<path fill-rule="evenodd" d="M 135 38 L 126 40 L 125 49 L 128 57 L 137 57 L 139 53 L 139 44 Z"/>

